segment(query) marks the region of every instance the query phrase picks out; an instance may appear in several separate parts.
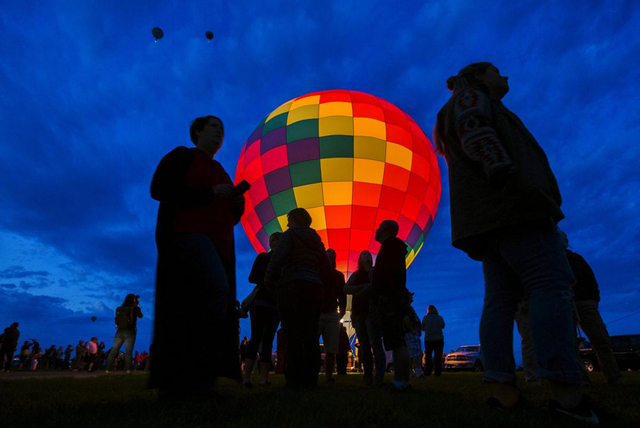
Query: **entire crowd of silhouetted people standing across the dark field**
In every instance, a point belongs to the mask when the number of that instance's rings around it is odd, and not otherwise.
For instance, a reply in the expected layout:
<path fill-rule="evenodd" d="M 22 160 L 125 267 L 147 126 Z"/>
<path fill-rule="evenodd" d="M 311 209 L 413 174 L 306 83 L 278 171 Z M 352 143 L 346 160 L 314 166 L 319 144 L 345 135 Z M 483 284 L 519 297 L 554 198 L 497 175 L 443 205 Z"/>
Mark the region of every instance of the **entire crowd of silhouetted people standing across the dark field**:
<path fill-rule="evenodd" d="M 552 411 L 597 423 L 588 397 L 580 391 L 585 374 L 576 351 L 576 325 L 596 347 L 607 381 L 615 385 L 622 378 L 598 311 L 593 272 L 568 249 L 568 239 L 557 227 L 564 218 L 562 198 L 548 159 L 502 103 L 508 79 L 493 64 L 470 64 L 450 77 L 447 87 L 452 96 L 437 115 L 434 143 L 448 165 L 452 244 L 482 263 L 480 342 L 484 381 L 493 392 L 487 404 L 501 410 L 525 405 L 513 357 L 517 322 L 526 380 L 549 383 Z M 195 147 L 180 146 L 164 156 L 151 183 L 151 196 L 160 206 L 150 387 L 159 389 L 160 399 L 212 397 L 220 376 L 251 388 L 256 368 L 259 385 L 268 386 L 279 324 L 275 369 L 285 373 L 287 387 L 317 386 L 321 364 L 325 382 L 334 383 L 336 365 L 338 372 L 345 367 L 340 321 L 347 312 L 347 296 L 365 385 L 383 384 L 389 351 L 394 366 L 390 389 L 410 390 L 412 374 L 433 371 L 439 376 L 445 323 L 433 305 L 422 320 L 412 308 L 413 293 L 406 284 L 408 247 L 397 237 L 399 225 L 393 219 L 378 224 L 375 264 L 372 254 L 362 249 L 358 269 L 345 283 L 336 270 L 335 251 L 325 248 L 309 213 L 292 209 L 287 229 L 269 236 L 270 251 L 255 260 L 249 276 L 255 289 L 239 304 L 233 230 L 250 185 L 242 181 L 234 186 L 214 159 L 224 134 L 218 117 L 195 119 L 190 128 Z M 118 332 L 112 348 L 125 344 L 127 370 L 135 319 L 142 317 L 137 297 L 134 300 L 125 300 L 116 311 Z M 251 338 L 240 347 L 238 318 L 247 312 Z M 8 330 L 2 342 L 5 359 L 17 345 L 17 323 Z M 101 365 L 102 348 L 96 338 L 86 345 L 80 342 L 76 368 Z M 43 352 L 37 341 L 25 342 L 21 366 L 35 369 L 42 361 L 56 368 L 62 360 L 63 368 L 71 367 L 70 349 L 52 346 Z M 178 352 L 209 363 L 177 370 Z M 106 369 L 116 360 L 112 352 Z"/>

